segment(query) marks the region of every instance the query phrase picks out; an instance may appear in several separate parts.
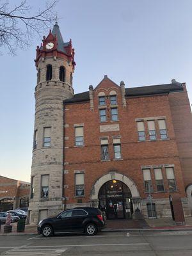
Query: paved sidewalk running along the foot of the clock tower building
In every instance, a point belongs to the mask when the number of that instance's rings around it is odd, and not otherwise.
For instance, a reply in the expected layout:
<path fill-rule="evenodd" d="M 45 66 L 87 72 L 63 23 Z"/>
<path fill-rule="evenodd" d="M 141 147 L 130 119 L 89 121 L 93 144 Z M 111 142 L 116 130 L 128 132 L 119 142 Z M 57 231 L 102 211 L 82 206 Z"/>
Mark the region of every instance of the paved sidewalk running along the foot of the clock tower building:
<path fill-rule="evenodd" d="M 1 225 L 0 236 L 14 236 L 14 235 L 37 235 L 36 225 L 26 225 L 24 232 L 17 232 L 17 223 L 12 223 L 12 233 L 4 234 Z M 171 218 L 161 218 L 153 220 L 108 220 L 106 228 L 103 232 L 134 232 L 134 231 L 176 231 L 176 230 L 192 230 L 192 217 L 186 218 L 186 225 L 175 225 Z"/>

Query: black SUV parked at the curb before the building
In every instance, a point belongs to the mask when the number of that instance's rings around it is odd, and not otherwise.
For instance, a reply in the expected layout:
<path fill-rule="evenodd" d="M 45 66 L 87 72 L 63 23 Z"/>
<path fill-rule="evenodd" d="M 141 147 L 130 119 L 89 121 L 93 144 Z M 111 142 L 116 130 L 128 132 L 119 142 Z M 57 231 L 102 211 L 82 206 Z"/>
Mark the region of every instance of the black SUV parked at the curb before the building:
<path fill-rule="evenodd" d="M 76 207 L 61 212 L 58 216 L 40 220 L 38 234 L 45 237 L 53 234 L 85 232 L 89 236 L 97 234 L 105 225 L 102 212 L 93 207 Z"/>

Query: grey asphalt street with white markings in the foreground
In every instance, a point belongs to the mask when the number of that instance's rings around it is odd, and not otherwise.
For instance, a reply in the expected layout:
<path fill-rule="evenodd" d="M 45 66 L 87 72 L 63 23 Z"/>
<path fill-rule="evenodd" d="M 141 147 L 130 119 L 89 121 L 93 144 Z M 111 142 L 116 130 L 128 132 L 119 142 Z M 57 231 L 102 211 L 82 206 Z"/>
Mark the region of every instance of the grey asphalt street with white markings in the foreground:
<path fill-rule="evenodd" d="M 0 236 L 1 255 L 191 256 L 192 231 L 101 232 L 97 236 Z"/>

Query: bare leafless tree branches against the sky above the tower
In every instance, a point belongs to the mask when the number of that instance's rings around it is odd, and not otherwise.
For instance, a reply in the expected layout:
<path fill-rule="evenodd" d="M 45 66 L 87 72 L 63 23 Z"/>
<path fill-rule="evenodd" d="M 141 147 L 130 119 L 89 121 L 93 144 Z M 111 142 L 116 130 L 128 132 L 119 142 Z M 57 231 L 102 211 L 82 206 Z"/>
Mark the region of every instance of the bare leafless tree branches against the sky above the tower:
<path fill-rule="evenodd" d="M 0 0 L 0 47 L 12 55 L 18 48 L 26 49 L 35 34 L 42 36 L 45 29 L 51 28 L 56 19 L 56 2 L 51 0 L 45 3 L 43 10 L 33 12 L 26 0 L 15 6 L 11 6 L 8 0 Z"/>

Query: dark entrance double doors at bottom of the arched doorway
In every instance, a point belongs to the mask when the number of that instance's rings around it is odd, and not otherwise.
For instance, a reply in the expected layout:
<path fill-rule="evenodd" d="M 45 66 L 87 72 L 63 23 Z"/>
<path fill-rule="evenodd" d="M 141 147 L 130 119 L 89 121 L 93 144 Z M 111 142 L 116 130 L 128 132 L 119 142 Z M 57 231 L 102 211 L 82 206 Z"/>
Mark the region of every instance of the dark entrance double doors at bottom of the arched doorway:
<path fill-rule="evenodd" d="M 107 200 L 107 218 L 108 219 L 123 219 L 124 215 L 124 200 L 110 198 Z"/>

